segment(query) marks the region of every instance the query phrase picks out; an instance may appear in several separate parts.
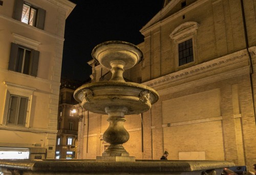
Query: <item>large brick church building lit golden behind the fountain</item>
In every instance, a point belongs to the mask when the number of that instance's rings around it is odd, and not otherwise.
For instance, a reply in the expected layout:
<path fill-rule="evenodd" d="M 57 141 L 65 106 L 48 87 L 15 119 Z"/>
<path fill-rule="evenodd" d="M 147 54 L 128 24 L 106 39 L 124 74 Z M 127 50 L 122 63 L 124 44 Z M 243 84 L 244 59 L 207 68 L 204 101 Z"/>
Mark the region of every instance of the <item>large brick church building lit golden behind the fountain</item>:
<path fill-rule="evenodd" d="M 254 7 L 254 8 L 253 8 Z M 173 0 L 140 30 L 144 61 L 124 73 L 160 98 L 150 111 L 126 116 L 136 159 L 256 162 L 256 1 Z M 93 81 L 110 78 L 91 61 Z M 79 159 L 95 159 L 108 143 L 107 115 L 80 112 Z M 141 122 L 143 121 L 143 123 Z"/>

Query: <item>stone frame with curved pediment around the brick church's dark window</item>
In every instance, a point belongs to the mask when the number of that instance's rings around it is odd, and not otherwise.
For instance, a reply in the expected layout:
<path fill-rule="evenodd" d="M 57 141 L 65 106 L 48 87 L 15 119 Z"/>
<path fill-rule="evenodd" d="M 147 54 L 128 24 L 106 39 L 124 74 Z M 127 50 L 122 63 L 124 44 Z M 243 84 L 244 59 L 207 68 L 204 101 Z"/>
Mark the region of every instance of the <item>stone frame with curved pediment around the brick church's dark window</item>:
<path fill-rule="evenodd" d="M 181 69 L 190 67 L 191 65 L 197 64 L 197 29 L 199 24 L 194 21 L 189 21 L 181 24 L 169 35 L 174 43 L 174 52 L 175 52 L 175 70 L 179 71 Z M 193 60 L 192 62 L 179 65 L 179 43 L 184 42 L 188 39 L 192 39 L 193 42 Z"/>

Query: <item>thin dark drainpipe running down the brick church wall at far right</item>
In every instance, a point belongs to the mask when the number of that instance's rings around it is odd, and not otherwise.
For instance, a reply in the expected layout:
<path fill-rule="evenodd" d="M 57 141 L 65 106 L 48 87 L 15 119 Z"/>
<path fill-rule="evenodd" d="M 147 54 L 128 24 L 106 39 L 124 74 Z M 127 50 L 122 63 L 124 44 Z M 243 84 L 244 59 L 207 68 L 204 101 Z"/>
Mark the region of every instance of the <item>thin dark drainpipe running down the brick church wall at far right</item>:
<path fill-rule="evenodd" d="M 242 17 L 243 17 L 243 26 L 244 26 L 244 36 L 245 36 L 245 44 L 246 44 L 246 50 L 249 55 L 249 63 L 250 63 L 250 84 L 251 84 L 251 93 L 252 93 L 252 103 L 253 103 L 253 112 L 255 117 L 255 125 L 256 125 L 256 113 L 255 113 L 255 103 L 254 103 L 254 89 L 253 89 L 253 82 L 252 82 L 252 74 L 253 72 L 253 66 L 252 66 L 252 59 L 249 52 L 249 43 L 248 43 L 248 36 L 247 36 L 247 28 L 246 28 L 246 21 L 245 21 L 245 14 L 244 14 L 244 2 L 243 0 L 241 2 L 241 9 L 242 9 Z"/>

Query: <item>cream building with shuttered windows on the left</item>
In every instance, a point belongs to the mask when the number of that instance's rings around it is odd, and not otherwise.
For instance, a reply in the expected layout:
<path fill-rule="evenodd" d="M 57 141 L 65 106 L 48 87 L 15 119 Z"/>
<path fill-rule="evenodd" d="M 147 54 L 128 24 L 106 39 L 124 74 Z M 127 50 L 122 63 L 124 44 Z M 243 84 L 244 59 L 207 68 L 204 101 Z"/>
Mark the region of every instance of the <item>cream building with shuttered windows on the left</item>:
<path fill-rule="evenodd" d="M 67 0 L 0 6 L 0 159 L 54 159 Z"/>

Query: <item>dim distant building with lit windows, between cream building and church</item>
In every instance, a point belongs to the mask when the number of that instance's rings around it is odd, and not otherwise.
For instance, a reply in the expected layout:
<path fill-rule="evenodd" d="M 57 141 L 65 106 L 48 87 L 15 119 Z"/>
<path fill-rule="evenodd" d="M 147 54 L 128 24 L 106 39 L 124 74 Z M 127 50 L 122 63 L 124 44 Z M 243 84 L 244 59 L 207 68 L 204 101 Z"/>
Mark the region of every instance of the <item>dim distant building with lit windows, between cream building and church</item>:
<path fill-rule="evenodd" d="M 58 133 L 56 141 L 56 159 L 76 159 L 78 102 L 74 99 L 74 91 L 81 85 L 79 81 L 61 79 L 59 92 Z"/>

